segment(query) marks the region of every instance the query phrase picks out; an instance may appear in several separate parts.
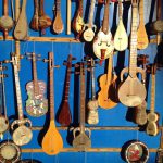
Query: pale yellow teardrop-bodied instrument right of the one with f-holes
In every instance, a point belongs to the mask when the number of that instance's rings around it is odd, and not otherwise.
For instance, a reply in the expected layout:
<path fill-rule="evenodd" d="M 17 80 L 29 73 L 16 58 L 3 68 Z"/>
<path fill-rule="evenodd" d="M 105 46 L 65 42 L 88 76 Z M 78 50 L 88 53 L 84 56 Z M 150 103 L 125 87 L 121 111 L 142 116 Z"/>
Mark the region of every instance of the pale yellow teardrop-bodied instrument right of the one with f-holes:
<path fill-rule="evenodd" d="M 122 0 L 118 0 L 118 25 L 114 36 L 114 48 L 124 51 L 128 47 L 128 35 L 123 23 Z"/>

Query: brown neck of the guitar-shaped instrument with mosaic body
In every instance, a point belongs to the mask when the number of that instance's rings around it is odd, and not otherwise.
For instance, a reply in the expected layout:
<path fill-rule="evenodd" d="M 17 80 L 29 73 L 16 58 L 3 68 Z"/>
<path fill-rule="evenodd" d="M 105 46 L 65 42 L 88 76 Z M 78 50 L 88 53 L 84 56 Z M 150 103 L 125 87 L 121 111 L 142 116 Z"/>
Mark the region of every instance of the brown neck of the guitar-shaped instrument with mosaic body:
<path fill-rule="evenodd" d="M 37 68 L 36 68 L 36 57 L 35 53 L 33 55 L 33 79 L 34 79 L 34 92 L 37 95 L 38 92 L 38 79 L 37 79 Z"/>

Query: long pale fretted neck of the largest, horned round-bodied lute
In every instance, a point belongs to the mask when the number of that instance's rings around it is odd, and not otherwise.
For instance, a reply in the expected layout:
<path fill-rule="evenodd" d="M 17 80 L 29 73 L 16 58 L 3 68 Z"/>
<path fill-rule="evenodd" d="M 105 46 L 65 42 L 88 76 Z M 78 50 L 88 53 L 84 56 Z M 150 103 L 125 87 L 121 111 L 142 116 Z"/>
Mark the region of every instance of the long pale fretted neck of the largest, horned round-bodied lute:
<path fill-rule="evenodd" d="M 129 75 L 136 77 L 137 67 L 137 5 L 133 5 L 133 20 L 130 33 L 130 58 L 129 58 Z"/>

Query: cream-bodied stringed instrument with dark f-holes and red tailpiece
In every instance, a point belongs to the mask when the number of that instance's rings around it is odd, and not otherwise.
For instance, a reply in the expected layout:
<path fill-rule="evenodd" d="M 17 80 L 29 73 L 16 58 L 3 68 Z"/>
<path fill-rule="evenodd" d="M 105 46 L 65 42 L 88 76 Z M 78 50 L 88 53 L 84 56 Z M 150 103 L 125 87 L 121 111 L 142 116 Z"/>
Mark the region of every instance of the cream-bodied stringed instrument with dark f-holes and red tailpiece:
<path fill-rule="evenodd" d="M 95 37 L 92 45 L 93 53 L 100 60 L 110 58 L 114 51 L 114 41 L 109 28 L 109 5 L 110 0 L 106 0 L 104 5 L 102 27 Z M 102 49 L 104 49 L 105 51 L 101 53 Z"/>

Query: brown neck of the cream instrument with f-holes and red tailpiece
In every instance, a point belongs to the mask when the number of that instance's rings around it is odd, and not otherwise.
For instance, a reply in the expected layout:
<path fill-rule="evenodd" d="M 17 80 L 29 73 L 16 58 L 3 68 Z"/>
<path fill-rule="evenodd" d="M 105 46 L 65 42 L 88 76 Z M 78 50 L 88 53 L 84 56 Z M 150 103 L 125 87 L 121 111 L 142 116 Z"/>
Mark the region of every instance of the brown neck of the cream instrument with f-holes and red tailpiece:
<path fill-rule="evenodd" d="M 109 32 L 109 5 L 110 5 L 110 0 L 106 0 L 105 7 L 104 7 L 103 23 L 102 23 L 102 32 L 104 34 L 108 34 Z"/>

